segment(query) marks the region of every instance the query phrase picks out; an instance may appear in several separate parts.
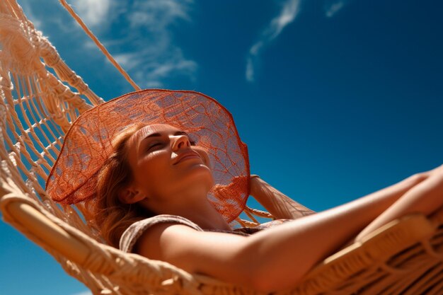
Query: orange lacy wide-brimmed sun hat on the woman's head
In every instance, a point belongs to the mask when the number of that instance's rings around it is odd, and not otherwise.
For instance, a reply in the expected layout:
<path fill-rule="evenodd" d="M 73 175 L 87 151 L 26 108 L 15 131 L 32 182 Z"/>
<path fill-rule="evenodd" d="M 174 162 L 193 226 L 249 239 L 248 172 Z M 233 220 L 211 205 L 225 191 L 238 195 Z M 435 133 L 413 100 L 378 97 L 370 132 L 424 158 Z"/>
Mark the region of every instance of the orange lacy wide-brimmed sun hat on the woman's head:
<path fill-rule="evenodd" d="M 113 153 L 113 138 L 134 122 L 163 123 L 188 132 L 209 154 L 216 184 L 209 202 L 228 222 L 241 213 L 249 195 L 247 146 L 232 115 L 213 98 L 194 91 L 137 91 L 84 112 L 64 137 L 47 178 L 47 194 L 62 204 L 93 200 L 100 168 Z"/>

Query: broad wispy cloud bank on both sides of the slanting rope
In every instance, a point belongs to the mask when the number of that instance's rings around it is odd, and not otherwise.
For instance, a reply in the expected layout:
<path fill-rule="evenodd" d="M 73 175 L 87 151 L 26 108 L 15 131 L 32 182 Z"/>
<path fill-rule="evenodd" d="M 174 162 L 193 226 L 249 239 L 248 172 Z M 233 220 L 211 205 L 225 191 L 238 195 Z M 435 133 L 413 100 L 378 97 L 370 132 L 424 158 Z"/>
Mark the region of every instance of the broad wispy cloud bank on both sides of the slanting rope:
<path fill-rule="evenodd" d="M 36 27 L 53 40 L 69 35 L 76 46 L 64 54 L 87 50 L 90 59 L 110 66 L 57 0 L 47 1 L 52 3 L 43 7 L 22 0 Z M 194 0 L 71 0 L 69 4 L 140 87 L 163 87 L 174 77 L 195 81 L 197 62 L 185 57 L 173 36 L 180 24 L 192 21 Z"/>

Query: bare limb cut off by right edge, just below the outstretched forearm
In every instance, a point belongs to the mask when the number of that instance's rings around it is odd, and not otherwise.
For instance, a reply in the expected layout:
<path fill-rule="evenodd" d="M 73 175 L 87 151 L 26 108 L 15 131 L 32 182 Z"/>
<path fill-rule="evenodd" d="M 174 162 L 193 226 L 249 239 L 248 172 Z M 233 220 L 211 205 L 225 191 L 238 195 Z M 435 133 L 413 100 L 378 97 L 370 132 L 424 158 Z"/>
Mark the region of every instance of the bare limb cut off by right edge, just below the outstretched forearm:
<path fill-rule="evenodd" d="M 380 214 L 355 238 L 360 238 L 378 229 L 380 226 L 412 213 L 430 215 L 443 207 L 443 168 L 439 166 L 430 171 L 430 176 L 405 192 L 396 202 Z"/>

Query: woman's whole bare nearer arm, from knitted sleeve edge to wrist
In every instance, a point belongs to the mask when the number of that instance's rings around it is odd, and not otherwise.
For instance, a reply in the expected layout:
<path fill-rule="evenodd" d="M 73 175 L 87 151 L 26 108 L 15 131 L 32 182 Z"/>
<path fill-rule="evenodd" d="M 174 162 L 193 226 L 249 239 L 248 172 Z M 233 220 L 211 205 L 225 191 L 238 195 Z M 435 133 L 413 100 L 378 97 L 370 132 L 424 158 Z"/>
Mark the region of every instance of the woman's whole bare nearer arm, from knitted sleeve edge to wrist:
<path fill-rule="evenodd" d="M 191 273 L 259 291 L 286 289 L 362 231 L 398 195 L 422 180 L 422 175 L 415 175 L 366 197 L 247 238 L 199 232 L 179 224 L 159 224 L 144 233 L 136 251 Z"/>

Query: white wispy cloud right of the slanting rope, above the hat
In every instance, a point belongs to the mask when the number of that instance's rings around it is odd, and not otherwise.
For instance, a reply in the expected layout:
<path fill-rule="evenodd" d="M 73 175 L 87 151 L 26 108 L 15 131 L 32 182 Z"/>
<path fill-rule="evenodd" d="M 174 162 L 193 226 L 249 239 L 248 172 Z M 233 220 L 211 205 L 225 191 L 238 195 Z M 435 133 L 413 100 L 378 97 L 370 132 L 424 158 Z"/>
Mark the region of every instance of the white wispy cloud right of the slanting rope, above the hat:
<path fill-rule="evenodd" d="M 76 0 L 78 13 L 142 88 L 162 87 L 173 76 L 195 79 L 197 63 L 173 42 L 171 28 L 190 21 L 193 0 Z M 118 18 L 120 16 L 120 19 Z M 124 33 L 115 32 L 115 22 Z M 106 25 L 107 24 L 107 25 Z M 125 27 L 122 29 L 122 27 Z M 113 30 L 112 33 L 109 30 Z M 112 36 L 110 37 L 106 36 Z M 87 47 L 91 43 L 86 43 Z"/>

